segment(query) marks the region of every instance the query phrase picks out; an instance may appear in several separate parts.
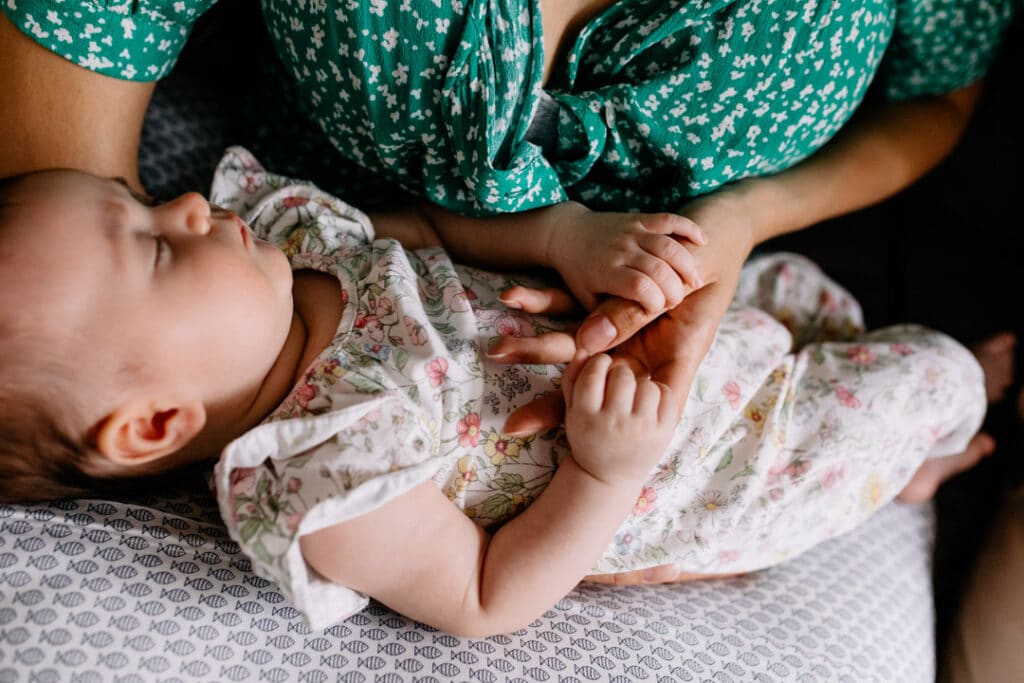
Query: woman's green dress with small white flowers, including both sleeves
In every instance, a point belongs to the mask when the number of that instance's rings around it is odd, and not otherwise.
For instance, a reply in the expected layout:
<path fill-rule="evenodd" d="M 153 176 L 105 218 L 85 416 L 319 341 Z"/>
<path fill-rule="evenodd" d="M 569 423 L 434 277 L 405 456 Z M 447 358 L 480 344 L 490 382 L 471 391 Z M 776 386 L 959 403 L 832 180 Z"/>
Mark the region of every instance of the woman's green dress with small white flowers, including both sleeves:
<path fill-rule="evenodd" d="M 28 35 L 118 78 L 164 75 L 212 0 L 7 0 Z M 618 0 L 542 84 L 540 0 L 262 0 L 334 145 L 467 213 L 568 198 L 675 210 L 793 166 L 883 96 L 984 75 L 1015 0 Z M 554 101 L 556 134 L 530 135 Z"/>

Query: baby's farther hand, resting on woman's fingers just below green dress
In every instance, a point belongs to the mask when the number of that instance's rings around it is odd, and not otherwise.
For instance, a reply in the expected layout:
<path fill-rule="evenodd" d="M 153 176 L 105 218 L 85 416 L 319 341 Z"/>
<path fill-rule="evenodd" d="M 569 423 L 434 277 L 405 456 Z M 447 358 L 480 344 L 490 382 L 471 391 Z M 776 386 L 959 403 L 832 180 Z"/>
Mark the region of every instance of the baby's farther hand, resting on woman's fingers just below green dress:
<path fill-rule="evenodd" d="M 653 316 L 703 286 L 696 260 L 677 238 L 707 240 L 684 216 L 596 212 L 565 202 L 551 230 L 548 262 L 588 310 L 607 295 L 636 301 Z"/>

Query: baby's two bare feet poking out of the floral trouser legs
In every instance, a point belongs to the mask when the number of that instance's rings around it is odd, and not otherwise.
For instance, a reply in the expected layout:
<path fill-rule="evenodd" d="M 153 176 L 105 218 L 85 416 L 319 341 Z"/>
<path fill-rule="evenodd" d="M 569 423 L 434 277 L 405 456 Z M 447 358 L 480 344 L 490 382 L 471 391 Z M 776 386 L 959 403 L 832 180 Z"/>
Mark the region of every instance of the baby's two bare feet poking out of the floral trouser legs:
<path fill-rule="evenodd" d="M 1014 379 L 1014 346 L 1017 338 L 1000 333 L 978 342 L 971 350 L 985 373 L 985 396 L 992 403 L 1006 393 Z M 950 477 L 971 469 L 995 450 L 995 440 L 979 432 L 962 453 L 926 460 L 896 499 L 902 503 L 931 500 L 939 485 Z"/>

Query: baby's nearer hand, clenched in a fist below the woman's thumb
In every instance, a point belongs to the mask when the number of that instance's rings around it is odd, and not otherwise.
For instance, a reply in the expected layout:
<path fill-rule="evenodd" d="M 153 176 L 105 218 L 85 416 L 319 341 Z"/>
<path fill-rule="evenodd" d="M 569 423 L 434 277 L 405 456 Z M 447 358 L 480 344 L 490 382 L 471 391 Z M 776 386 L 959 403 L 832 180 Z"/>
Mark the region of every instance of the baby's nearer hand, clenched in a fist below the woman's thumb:
<path fill-rule="evenodd" d="M 578 356 L 562 377 L 565 433 L 572 459 L 606 483 L 639 482 L 665 453 L 676 428 L 672 390 L 640 378 L 611 356 Z"/>

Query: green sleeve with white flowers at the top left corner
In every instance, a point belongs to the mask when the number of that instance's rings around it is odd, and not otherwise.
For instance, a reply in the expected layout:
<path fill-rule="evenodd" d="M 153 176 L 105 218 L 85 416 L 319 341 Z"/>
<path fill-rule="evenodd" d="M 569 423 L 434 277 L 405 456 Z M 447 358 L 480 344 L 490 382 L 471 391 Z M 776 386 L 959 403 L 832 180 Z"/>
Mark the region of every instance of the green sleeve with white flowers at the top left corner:
<path fill-rule="evenodd" d="M 6 0 L 25 35 L 69 61 L 127 81 L 157 81 L 174 66 L 193 24 L 216 0 Z"/>

